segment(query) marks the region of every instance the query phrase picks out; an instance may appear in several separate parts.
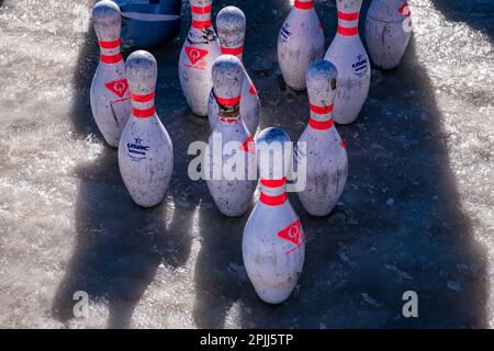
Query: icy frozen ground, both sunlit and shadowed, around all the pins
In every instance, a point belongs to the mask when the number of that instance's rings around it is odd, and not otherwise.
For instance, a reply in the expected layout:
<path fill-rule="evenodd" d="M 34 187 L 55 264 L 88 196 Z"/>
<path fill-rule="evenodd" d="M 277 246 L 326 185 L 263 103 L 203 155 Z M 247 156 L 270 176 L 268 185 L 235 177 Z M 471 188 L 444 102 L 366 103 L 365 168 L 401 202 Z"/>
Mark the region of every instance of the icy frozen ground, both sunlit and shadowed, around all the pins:
<path fill-rule="evenodd" d="M 316 2 L 328 45 L 334 1 Z M 224 218 L 187 177 L 187 147 L 209 126 L 181 95 L 181 41 L 153 52 L 171 189 L 157 208 L 133 205 L 89 109 L 98 49 L 81 14 L 92 3 L 0 0 L 0 327 L 494 327 L 492 0 L 411 1 L 403 65 L 373 70 L 360 118 L 339 127 L 350 161 L 341 203 L 316 219 L 292 197 L 305 270 L 277 307 L 246 279 L 247 215 Z M 262 127 L 295 139 L 306 97 L 284 88 L 276 63 L 288 1 L 216 0 L 215 12 L 229 3 L 248 19 Z M 419 318 L 401 315 L 407 290 Z M 87 319 L 72 318 L 75 291 L 91 297 Z"/>

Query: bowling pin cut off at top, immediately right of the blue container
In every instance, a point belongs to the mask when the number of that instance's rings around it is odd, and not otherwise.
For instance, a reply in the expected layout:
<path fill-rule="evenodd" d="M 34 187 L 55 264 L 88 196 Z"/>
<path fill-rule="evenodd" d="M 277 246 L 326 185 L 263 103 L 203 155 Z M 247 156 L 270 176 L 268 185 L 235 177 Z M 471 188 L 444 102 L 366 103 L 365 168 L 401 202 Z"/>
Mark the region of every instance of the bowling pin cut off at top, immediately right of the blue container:
<path fill-rule="evenodd" d="M 179 59 L 180 86 L 192 112 L 207 116 L 207 99 L 213 80 L 211 67 L 221 55 L 220 42 L 211 23 L 213 0 L 190 0 L 192 24 Z"/>

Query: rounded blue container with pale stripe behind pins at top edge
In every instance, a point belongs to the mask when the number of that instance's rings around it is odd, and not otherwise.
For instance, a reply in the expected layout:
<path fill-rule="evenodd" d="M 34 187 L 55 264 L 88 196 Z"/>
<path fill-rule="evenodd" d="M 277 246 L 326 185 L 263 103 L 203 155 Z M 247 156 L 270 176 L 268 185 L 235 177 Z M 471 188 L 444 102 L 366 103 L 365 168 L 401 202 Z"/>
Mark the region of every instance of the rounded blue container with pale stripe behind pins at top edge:
<path fill-rule="evenodd" d="M 151 47 L 175 39 L 180 33 L 181 0 L 113 0 L 122 10 L 122 42 Z"/>

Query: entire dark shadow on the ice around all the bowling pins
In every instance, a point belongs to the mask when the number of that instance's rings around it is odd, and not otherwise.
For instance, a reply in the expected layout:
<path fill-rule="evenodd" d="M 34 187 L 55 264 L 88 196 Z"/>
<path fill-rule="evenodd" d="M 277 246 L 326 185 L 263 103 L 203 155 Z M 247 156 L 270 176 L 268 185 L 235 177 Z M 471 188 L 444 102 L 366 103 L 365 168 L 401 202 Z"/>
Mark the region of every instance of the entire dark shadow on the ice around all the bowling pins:
<path fill-rule="evenodd" d="M 218 1 L 215 10 L 224 4 Z M 243 8 L 248 21 L 245 61 L 261 95 L 261 126 L 281 125 L 296 140 L 308 116 L 306 97 L 280 91 L 276 59 L 276 34 L 289 11 L 288 1 L 233 4 Z M 336 7 L 324 2 L 317 11 L 328 45 Z M 182 38 L 187 30 L 184 22 Z M 86 47 L 74 78 L 81 91 L 71 114 L 77 137 L 97 133 L 89 107 L 96 39 L 88 36 Z M 205 120 L 188 111 L 181 94 L 180 47 L 176 42 L 153 52 L 159 63 L 157 111 L 176 156 L 168 193 L 172 200 L 147 211 L 135 206 L 120 179 L 116 152 L 108 147 L 78 168 L 77 240 L 54 301 L 58 319 L 72 318 L 72 294 L 82 290 L 91 301 L 108 304 L 109 327 L 132 326 L 133 312 L 158 265 L 184 264 L 191 237 L 200 236 L 192 312 L 199 327 L 225 326 L 234 305 L 240 327 L 246 328 L 486 325 L 486 254 L 458 205 L 441 114 L 425 68 L 416 63 L 413 38 L 400 68 L 373 71 L 359 120 L 337 126 L 349 154 L 341 204 L 330 216 L 314 218 L 304 213 L 296 195 L 290 196 L 307 236 L 306 260 L 299 286 L 280 306 L 260 302 L 247 280 L 242 234 L 248 215 L 223 217 L 205 183 L 188 179 L 188 145 L 205 140 L 210 131 Z M 166 211 L 169 206 L 176 210 Z M 418 294 L 419 318 L 402 315 L 402 295 L 409 290 Z"/>

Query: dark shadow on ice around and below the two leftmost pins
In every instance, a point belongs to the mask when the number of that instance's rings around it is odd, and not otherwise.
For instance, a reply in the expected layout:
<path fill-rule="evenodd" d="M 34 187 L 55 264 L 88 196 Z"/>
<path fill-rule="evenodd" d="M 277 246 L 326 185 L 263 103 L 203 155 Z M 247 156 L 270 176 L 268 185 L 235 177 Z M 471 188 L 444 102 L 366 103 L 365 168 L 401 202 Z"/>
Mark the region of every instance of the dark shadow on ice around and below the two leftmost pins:
<path fill-rule="evenodd" d="M 103 147 L 93 161 L 80 165 L 76 170 L 80 181 L 76 240 L 53 302 L 53 314 L 69 326 L 76 304 L 74 293 L 85 291 L 91 303 L 106 306 L 109 328 L 127 328 L 133 325 L 134 309 L 154 281 L 158 267 L 162 263 L 166 269 L 175 270 L 189 258 L 191 224 L 199 201 L 194 203 L 194 197 L 183 197 L 182 189 L 187 189 L 189 180 L 187 167 L 181 167 L 184 162 L 179 160 L 168 197 L 161 205 L 144 210 L 133 203 L 120 176 L 116 150 L 105 145 L 91 114 L 89 88 L 98 55 L 91 27 L 72 79 L 79 94 L 70 117 L 77 138 L 94 134 Z M 158 86 L 157 95 L 164 95 L 168 88 Z M 157 99 L 158 113 L 164 112 L 169 117 L 164 106 L 167 106 L 166 102 Z M 171 135 L 175 132 L 168 131 Z M 187 154 L 187 148 L 177 148 L 178 152 Z"/>

